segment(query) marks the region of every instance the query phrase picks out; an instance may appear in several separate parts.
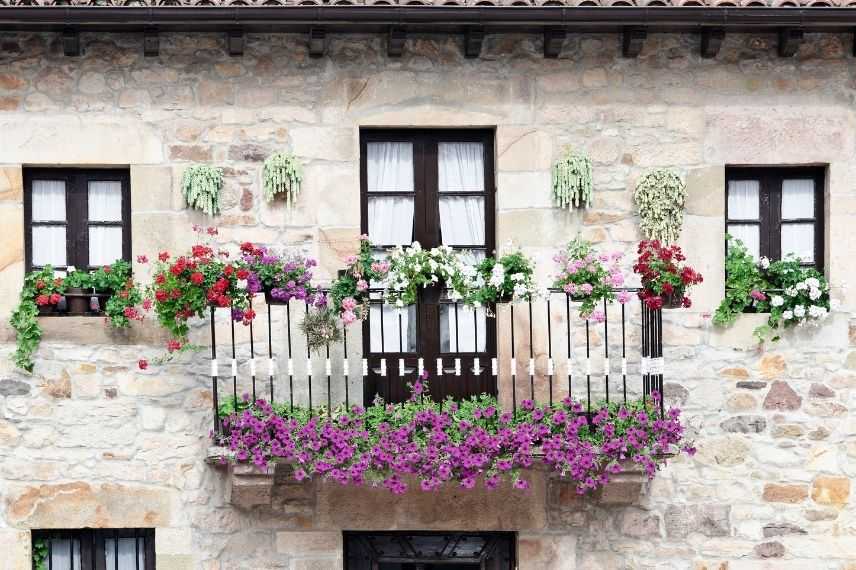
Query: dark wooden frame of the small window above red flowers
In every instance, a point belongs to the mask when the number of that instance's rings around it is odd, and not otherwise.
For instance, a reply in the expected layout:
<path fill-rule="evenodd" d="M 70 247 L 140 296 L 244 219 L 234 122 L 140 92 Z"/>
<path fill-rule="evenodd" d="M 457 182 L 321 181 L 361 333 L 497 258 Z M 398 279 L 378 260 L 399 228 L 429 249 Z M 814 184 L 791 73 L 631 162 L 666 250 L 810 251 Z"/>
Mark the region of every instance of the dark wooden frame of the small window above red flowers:
<path fill-rule="evenodd" d="M 65 223 L 33 220 L 33 181 L 62 180 L 65 182 Z M 89 182 L 118 181 L 122 184 L 122 221 L 89 221 Z M 66 263 L 80 269 L 94 269 L 89 263 L 89 227 L 122 228 L 122 258 L 131 260 L 131 176 L 122 168 L 25 168 L 24 169 L 24 248 L 27 271 L 33 266 L 33 226 L 64 225 L 66 227 Z"/>

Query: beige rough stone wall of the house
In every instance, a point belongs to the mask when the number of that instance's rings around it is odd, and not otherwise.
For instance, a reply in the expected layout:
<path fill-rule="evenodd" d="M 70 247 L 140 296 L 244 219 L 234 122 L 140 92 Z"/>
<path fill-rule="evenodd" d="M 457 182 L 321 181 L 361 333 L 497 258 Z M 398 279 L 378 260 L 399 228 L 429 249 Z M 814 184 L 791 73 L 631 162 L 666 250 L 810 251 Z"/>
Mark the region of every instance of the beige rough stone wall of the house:
<path fill-rule="evenodd" d="M 774 35 L 729 34 L 715 60 L 696 38 L 654 35 L 638 59 L 616 36 L 573 36 L 545 60 L 540 38 L 409 38 L 388 59 L 377 36 L 305 41 L 251 35 L 229 58 L 219 35 L 84 34 L 65 58 L 51 34 L 0 34 L 0 566 L 29 568 L 29 529 L 156 527 L 159 569 L 342 567 L 342 529 L 507 529 L 521 568 L 853 570 L 856 567 L 856 64 L 848 35 L 808 35 L 795 58 Z M 201 214 L 178 184 L 191 162 L 226 171 L 224 244 L 301 246 L 329 277 L 359 234 L 362 126 L 494 127 L 497 243 L 540 262 L 577 231 L 630 251 L 636 178 L 674 166 L 688 182 L 682 244 L 705 275 L 692 310 L 667 316 L 667 395 L 698 454 L 670 463 L 632 506 L 580 500 L 546 480 L 528 495 L 392 499 L 292 486 L 265 509 L 226 502 L 205 459 L 210 380 L 200 362 L 140 372 L 159 333 L 54 320 L 35 374 L 7 358 L 5 321 L 23 275 L 22 165 L 129 165 L 135 253 L 175 250 Z M 551 208 L 549 167 L 565 145 L 594 161 L 594 207 Z M 260 160 L 306 163 L 298 207 L 261 200 Z M 746 315 L 709 320 L 723 290 L 725 165 L 828 166 L 826 274 L 841 302 L 816 331 L 758 349 Z M 533 232 L 532 228 L 538 228 Z M 539 479 L 535 479 L 539 481 Z"/>

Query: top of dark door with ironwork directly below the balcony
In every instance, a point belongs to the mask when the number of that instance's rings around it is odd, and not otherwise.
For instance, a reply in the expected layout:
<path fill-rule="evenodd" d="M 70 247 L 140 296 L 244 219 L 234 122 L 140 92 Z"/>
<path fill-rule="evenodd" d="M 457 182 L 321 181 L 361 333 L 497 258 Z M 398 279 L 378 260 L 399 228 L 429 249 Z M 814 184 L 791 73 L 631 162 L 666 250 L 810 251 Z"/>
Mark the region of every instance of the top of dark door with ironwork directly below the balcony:
<path fill-rule="evenodd" d="M 345 570 L 512 570 L 514 533 L 345 533 Z"/>

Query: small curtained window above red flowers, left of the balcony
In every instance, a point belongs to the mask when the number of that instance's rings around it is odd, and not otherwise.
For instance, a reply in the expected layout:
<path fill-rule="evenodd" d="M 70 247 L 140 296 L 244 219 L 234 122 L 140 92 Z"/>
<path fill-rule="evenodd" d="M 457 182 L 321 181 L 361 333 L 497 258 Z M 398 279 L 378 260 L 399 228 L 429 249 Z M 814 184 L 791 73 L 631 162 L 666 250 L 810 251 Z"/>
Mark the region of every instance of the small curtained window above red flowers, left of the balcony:
<path fill-rule="evenodd" d="M 127 170 L 27 169 L 24 186 L 28 271 L 130 260 Z"/>

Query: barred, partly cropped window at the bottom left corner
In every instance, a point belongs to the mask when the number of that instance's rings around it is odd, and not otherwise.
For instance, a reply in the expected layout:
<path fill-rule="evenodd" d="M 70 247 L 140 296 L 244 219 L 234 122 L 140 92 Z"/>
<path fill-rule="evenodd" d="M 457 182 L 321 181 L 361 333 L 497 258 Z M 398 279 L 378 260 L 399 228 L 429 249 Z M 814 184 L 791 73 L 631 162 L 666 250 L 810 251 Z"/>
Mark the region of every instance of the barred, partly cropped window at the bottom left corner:
<path fill-rule="evenodd" d="M 34 570 L 155 568 L 154 529 L 34 530 L 32 538 Z"/>

